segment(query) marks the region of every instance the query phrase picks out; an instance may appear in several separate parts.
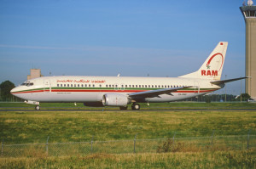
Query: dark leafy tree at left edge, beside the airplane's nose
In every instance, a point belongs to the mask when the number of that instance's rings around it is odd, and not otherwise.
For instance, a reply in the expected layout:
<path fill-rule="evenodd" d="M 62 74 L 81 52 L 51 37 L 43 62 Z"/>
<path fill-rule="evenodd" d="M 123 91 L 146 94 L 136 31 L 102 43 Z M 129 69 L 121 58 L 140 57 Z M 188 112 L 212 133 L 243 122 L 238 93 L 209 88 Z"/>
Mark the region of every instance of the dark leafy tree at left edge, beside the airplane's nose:
<path fill-rule="evenodd" d="M 13 82 L 5 81 L 0 84 L 1 89 L 1 99 L 3 101 L 9 101 L 13 98 L 13 95 L 10 93 L 11 89 L 15 87 Z"/>

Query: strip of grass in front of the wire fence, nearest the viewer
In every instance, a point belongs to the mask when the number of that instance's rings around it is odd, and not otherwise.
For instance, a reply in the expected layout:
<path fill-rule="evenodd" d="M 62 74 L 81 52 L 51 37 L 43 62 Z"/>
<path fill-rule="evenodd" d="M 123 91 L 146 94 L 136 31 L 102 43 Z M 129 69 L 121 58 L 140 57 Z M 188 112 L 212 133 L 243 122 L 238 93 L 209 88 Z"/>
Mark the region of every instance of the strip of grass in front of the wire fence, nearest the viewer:
<path fill-rule="evenodd" d="M 0 168 L 255 168 L 255 151 L 0 158 Z"/>

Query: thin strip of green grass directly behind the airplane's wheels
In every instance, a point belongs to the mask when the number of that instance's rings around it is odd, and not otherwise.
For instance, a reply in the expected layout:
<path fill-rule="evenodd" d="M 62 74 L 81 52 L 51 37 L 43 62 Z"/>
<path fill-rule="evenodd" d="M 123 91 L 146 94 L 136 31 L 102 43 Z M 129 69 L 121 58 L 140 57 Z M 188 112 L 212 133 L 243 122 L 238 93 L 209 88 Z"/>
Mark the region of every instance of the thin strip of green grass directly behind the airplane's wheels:
<path fill-rule="evenodd" d="M 73 103 L 41 103 L 41 110 L 119 110 L 118 107 L 87 107 L 82 103 L 77 103 L 75 106 Z M 29 109 L 33 110 L 35 105 L 25 103 L 0 103 L 0 110 L 5 109 Z M 202 102 L 171 102 L 171 103 L 151 103 L 141 104 L 141 110 L 177 110 L 177 109 L 256 109 L 256 104 L 247 102 L 230 102 L 230 103 L 202 103 Z M 129 105 L 131 110 L 131 104 Z"/>

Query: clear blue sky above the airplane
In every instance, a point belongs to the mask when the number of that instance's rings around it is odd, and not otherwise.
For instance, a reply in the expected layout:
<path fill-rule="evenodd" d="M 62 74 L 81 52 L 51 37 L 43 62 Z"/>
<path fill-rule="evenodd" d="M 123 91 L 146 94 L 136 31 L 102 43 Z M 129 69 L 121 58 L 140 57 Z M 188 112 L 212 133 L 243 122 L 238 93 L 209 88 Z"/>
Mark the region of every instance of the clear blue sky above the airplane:
<path fill-rule="evenodd" d="M 245 76 L 243 0 L 1 0 L 0 82 L 44 76 L 182 76 L 229 42 L 222 79 Z M 227 93 L 244 93 L 244 81 Z M 215 93 L 224 93 L 224 89 Z"/>

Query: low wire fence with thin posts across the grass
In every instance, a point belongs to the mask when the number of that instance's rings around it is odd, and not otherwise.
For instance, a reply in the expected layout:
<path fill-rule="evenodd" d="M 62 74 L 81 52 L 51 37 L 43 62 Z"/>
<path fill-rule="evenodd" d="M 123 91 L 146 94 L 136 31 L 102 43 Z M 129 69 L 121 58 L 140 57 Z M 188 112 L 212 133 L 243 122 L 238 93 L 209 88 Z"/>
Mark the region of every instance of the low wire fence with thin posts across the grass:
<path fill-rule="evenodd" d="M 256 135 L 156 138 L 45 144 L 4 144 L 1 157 L 90 155 L 95 153 L 165 153 L 256 149 Z"/>

